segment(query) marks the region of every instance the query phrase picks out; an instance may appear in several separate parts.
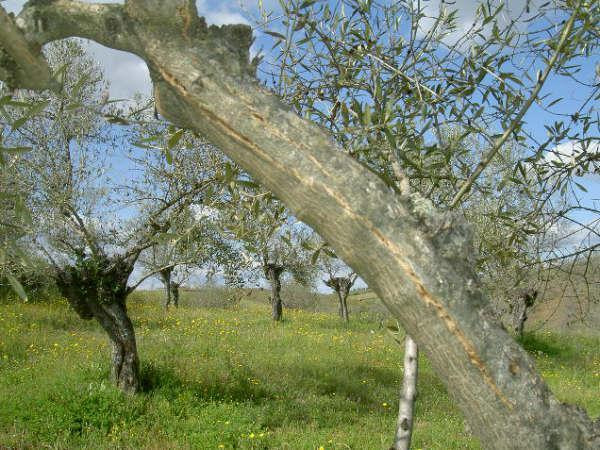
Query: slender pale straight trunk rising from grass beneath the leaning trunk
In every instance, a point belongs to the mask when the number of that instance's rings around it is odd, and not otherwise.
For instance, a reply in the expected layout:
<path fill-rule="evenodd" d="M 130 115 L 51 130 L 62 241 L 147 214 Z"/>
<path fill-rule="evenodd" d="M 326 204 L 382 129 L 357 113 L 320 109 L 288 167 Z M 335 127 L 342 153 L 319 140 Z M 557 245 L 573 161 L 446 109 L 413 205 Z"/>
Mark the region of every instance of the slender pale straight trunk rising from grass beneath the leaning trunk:
<path fill-rule="evenodd" d="M 412 437 L 415 400 L 417 398 L 417 378 L 419 349 L 417 343 L 407 334 L 404 338 L 404 377 L 398 408 L 396 436 L 391 450 L 408 450 Z"/>

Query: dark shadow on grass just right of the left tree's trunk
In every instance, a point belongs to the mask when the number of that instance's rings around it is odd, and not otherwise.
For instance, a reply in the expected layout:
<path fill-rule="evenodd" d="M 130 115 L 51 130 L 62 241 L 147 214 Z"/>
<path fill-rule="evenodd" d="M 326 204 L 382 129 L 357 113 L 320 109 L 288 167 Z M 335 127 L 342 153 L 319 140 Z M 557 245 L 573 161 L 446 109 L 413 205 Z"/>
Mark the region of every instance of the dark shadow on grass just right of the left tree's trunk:
<path fill-rule="evenodd" d="M 152 362 L 142 363 L 140 371 L 141 392 L 158 394 L 170 400 L 182 393 L 191 394 L 199 401 L 223 403 L 251 402 L 260 404 L 272 398 L 272 394 L 260 385 L 252 383 L 252 377 L 234 372 L 226 379 L 213 378 L 210 382 L 183 380 L 172 368 Z"/>

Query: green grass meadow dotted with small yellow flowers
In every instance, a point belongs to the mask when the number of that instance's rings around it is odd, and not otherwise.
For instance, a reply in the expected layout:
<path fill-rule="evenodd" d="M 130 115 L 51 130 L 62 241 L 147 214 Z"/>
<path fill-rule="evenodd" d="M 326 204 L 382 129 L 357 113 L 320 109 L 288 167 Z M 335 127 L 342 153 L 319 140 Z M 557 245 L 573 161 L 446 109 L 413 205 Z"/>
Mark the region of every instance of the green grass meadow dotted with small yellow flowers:
<path fill-rule="evenodd" d="M 401 349 L 366 314 L 266 305 L 130 302 L 143 392 L 108 380 L 109 346 L 62 302 L 0 305 L 0 447 L 388 448 Z M 333 305 L 335 306 L 335 305 Z M 524 345 L 561 400 L 600 415 L 600 339 L 530 335 Z M 421 361 L 414 448 L 480 448 Z M 2 448 L 4 448 L 2 447 Z"/>

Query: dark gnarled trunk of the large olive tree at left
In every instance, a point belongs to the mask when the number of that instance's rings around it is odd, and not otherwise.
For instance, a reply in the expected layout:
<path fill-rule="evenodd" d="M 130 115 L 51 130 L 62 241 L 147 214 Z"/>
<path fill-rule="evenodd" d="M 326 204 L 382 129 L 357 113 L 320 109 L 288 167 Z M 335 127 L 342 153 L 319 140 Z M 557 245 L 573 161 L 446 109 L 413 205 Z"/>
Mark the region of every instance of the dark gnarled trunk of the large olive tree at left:
<path fill-rule="evenodd" d="M 124 392 L 140 388 L 139 359 L 133 324 L 125 304 L 133 263 L 121 259 L 86 259 L 56 274 L 60 293 L 84 320 L 96 319 L 112 344 L 112 378 Z"/>

